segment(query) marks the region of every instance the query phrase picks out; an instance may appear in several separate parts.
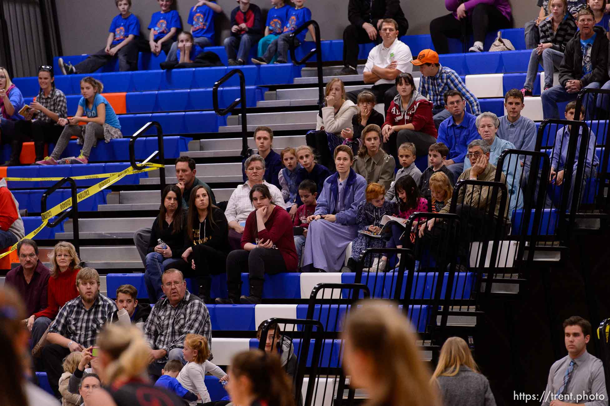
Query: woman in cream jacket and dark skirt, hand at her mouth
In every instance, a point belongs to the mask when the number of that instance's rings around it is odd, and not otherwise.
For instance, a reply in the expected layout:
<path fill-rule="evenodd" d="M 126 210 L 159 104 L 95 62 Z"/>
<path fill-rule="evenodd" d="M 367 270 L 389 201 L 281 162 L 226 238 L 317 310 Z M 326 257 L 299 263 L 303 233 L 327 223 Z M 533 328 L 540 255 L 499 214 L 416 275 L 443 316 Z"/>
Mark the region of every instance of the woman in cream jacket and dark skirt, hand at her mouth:
<path fill-rule="evenodd" d="M 343 132 L 354 129 L 351 119 L 358 108 L 353 101 L 345 99 L 345 85 L 341 79 L 328 82 L 325 94 L 326 99 L 317 115 L 315 130 L 307 132 L 305 139 L 307 145 L 316 151 L 317 161 L 334 172 L 332 151 L 337 145 L 343 144 Z"/>

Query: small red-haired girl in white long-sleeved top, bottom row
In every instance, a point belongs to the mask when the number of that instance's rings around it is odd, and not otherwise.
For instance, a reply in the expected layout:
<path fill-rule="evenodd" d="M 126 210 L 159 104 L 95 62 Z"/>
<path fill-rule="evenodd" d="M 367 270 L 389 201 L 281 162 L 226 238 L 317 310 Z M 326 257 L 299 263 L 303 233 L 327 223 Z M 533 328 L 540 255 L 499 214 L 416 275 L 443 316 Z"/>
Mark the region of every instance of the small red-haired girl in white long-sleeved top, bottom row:
<path fill-rule="evenodd" d="M 184 355 L 187 365 L 178 374 L 178 382 L 187 391 L 198 393 L 201 396 L 201 401 L 188 402 L 188 404 L 195 406 L 196 404 L 211 402 L 212 399 L 210 399 L 205 382 L 206 373 L 210 372 L 213 376 L 218 377 L 220 382 L 228 380 L 229 377 L 221 368 L 207 360 L 210 357 L 210 347 L 207 345 L 207 339 L 203 335 L 187 334 L 182 355 Z"/>

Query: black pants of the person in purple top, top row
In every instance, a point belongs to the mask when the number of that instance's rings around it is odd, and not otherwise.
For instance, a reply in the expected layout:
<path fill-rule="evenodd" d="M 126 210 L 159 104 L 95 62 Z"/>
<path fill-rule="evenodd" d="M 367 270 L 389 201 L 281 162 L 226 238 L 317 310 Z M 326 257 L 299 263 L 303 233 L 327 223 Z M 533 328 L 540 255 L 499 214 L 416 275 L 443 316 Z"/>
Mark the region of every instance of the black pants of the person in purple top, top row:
<path fill-rule="evenodd" d="M 468 21 L 458 20 L 453 14 L 447 14 L 430 21 L 430 36 L 434 49 L 439 54 L 449 53 L 447 38 L 461 38 L 464 34 L 473 34 L 475 41 L 485 41 L 485 34 L 503 28 L 509 28 L 508 20 L 495 6 L 478 4 L 472 9 Z"/>

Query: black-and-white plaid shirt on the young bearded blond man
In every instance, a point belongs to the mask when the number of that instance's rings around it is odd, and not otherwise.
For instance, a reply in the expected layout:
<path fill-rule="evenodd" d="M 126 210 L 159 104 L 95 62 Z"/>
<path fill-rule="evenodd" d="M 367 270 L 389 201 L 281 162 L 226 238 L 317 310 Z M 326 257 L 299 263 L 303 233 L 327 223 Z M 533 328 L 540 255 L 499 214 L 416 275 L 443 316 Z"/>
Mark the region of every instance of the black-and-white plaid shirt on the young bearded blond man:
<path fill-rule="evenodd" d="M 49 333 L 62 335 L 86 348 L 95 343 L 99 330 L 116 311 L 115 302 L 102 294 L 98 294 L 89 310 L 82 304 L 81 296 L 77 296 L 63 305 Z"/>

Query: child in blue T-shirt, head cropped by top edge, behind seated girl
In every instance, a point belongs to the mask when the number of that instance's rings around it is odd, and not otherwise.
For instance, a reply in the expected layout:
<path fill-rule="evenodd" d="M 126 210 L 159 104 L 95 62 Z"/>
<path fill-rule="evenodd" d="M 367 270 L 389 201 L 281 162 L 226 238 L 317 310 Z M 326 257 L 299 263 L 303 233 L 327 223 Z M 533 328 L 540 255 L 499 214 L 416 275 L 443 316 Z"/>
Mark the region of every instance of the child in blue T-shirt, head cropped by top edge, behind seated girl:
<path fill-rule="evenodd" d="M 223 9 L 215 1 L 199 0 L 188 13 L 190 32 L 195 38 L 195 44 L 201 48 L 214 45 L 214 14 L 222 13 Z M 171 45 L 170 53 L 165 62 L 178 61 L 176 57 L 178 43 Z"/>

